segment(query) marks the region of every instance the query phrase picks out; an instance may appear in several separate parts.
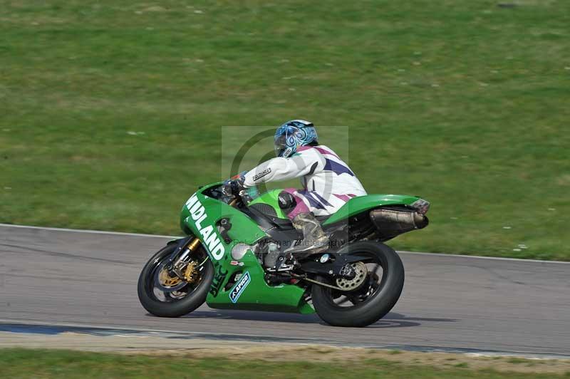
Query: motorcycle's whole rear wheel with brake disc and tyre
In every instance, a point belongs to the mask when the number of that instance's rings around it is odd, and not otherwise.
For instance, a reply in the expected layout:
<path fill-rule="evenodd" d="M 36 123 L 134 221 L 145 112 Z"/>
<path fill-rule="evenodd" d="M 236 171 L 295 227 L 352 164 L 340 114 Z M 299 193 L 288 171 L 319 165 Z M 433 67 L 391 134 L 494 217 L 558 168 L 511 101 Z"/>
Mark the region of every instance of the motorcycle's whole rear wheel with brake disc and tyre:
<path fill-rule="evenodd" d="M 404 266 L 396 252 L 380 242 L 349 244 L 338 254 L 362 259 L 351 265 L 356 276 L 330 279 L 318 276 L 339 289 L 313 285 L 311 297 L 319 317 L 332 326 L 368 326 L 386 315 L 400 298 L 404 286 Z"/>

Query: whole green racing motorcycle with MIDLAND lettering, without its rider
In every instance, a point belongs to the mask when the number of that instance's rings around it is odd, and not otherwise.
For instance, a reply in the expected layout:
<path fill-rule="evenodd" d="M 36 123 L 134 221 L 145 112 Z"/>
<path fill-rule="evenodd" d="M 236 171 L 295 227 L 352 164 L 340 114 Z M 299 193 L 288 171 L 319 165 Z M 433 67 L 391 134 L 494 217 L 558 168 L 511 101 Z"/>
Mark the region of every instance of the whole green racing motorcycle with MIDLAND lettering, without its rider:
<path fill-rule="evenodd" d="M 400 297 L 404 267 L 383 242 L 427 226 L 420 197 L 353 197 L 329 217 L 317 217 L 329 238 L 325 251 L 286 254 L 303 235 L 279 207 L 279 192 L 257 197 L 199 188 L 182 207 L 175 239 L 147 262 L 138 280 L 142 306 L 180 317 L 204 301 L 210 308 L 314 313 L 332 326 L 368 326 Z M 278 254 L 278 266 L 264 265 Z"/>

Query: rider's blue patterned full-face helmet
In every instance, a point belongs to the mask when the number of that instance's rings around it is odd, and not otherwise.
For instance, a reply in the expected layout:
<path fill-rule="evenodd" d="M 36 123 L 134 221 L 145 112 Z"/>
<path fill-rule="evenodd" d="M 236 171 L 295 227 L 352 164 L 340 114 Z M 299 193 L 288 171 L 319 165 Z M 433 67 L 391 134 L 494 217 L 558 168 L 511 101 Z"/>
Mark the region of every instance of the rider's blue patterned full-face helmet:
<path fill-rule="evenodd" d="M 291 157 L 297 147 L 316 142 L 316 130 L 313 123 L 305 120 L 287 121 L 275 132 L 275 155 Z"/>

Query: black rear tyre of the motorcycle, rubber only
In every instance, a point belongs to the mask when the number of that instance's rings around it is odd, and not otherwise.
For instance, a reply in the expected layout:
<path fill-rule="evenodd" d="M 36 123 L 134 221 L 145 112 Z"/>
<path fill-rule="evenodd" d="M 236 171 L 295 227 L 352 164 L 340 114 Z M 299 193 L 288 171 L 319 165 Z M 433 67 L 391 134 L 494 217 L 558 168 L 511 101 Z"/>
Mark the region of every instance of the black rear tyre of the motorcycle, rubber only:
<path fill-rule="evenodd" d="M 383 318 L 400 298 L 404 286 L 404 266 L 400 257 L 390 246 L 380 242 L 361 241 L 349 244 L 339 254 L 365 253 L 375 258 L 382 266 L 383 278 L 377 290 L 361 303 L 342 307 L 334 302 L 334 291 L 324 286 L 313 285 L 311 297 L 319 317 L 331 326 L 362 327 Z M 325 276 L 318 276 L 318 281 L 331 283 Z M 334 283 L 331 283 L 334 284 Z"/>

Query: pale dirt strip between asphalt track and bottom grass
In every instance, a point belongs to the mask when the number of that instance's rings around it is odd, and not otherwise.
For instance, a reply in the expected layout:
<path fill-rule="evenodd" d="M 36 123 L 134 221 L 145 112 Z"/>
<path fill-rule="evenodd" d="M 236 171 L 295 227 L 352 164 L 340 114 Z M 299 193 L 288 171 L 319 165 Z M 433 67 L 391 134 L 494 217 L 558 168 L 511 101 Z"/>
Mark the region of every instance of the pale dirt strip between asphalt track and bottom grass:
<path fill-rule="evenodd" d="M 484 356 L 472 353 L 421 353 L 372 348 L 338 348 L 299 343 L 256 343 L 212 341 L 201 338 L 155 336 L 93 336 L 82 333 L 56 335 L 0 332 L 0 348 L 58 348 L 99 353 L 177 355 L 188 358 L 224 356 L 235 360 L 304 360 L 346 362 L 390 360 L 405 365 L 432 365 L 438 368 L 493 369 L 518 373 L 570 372 L 570 359 Z"/>

